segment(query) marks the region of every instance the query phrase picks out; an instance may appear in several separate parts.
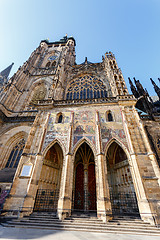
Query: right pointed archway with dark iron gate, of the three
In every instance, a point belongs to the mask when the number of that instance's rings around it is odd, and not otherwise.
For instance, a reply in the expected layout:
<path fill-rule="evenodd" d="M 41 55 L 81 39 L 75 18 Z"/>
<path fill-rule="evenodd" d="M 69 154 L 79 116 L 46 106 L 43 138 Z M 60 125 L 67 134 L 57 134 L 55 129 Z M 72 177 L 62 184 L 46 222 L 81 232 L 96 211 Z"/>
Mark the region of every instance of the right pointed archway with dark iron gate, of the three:
<path fill-rule="evenodd" d="M 107 151 L 106 160 L 113 215 L 139 216 L 126 153 L 116 142 L 113 142 Z"/>

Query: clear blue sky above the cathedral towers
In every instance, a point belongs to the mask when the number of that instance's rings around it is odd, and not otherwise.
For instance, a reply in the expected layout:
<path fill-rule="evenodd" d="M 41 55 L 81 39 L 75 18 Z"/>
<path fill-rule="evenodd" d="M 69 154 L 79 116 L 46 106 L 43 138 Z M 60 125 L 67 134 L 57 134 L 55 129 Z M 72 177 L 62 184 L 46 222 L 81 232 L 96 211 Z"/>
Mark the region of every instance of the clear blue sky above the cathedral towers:
<path fill-rule="evenodd" d="M 77 64 L 112 51 L 128 77 L 155 95 L 160 77 L 160 0 L 0 0 L 0 71 L 17 71 L 43 39 L 76 40 Z"/>

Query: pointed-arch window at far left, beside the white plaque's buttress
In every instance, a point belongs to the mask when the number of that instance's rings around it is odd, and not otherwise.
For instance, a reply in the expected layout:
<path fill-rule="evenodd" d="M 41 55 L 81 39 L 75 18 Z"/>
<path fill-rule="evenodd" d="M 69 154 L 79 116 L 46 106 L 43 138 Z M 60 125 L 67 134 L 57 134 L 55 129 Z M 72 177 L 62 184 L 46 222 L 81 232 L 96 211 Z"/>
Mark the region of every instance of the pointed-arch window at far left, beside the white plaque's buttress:
<path fill-rule="evenodd" d="M 9 155 L 6 168 L 16 168 L 18 166 L 20 157 L 22 155 L 23 149 L 25 145 L 25 140 L 22 139 L 16 146 L 12 149 L 12 152 Z"/>

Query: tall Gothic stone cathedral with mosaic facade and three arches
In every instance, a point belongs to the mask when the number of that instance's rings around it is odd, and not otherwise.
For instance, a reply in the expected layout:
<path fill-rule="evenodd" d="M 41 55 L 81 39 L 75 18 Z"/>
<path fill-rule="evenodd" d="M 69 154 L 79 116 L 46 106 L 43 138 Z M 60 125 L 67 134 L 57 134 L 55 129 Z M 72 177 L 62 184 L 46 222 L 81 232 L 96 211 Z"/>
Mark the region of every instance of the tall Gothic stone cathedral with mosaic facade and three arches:
<path fill-rule="evenodd" d="M 77 65 L 75 45 L 43 40 L 13 77 L 13 64 L 0 73 L 2 214 L 160 224 L 159 101 L 136 79 L 129 94 L 111 52 Z"/>

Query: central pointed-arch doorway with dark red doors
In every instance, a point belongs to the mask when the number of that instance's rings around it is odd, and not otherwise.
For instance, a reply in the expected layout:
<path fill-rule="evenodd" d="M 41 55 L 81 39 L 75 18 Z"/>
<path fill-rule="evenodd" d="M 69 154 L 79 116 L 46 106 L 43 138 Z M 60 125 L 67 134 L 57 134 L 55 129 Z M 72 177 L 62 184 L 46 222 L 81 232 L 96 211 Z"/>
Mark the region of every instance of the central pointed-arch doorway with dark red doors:
<path fill-rule="evenodd" d="M 93 151 L 83 143 L 74 162 L 73 209 L 75 212 L 96 212 L 96 177 Z"/>

